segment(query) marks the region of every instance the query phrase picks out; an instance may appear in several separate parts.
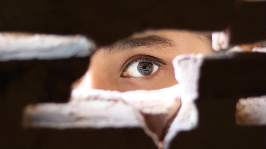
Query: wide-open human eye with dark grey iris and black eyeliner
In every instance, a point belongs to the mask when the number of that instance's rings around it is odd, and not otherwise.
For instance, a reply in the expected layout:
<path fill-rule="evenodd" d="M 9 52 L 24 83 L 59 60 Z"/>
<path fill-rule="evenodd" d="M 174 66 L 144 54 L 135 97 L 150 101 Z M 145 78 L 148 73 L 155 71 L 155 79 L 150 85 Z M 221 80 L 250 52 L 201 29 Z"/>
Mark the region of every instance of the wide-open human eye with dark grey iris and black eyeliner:
<path fill-rule="evenodd" d="M 132 58 L 130 58 L 132 59 Z M 142 78 L 156 73 L 162 65 L 166 65 L 158 58 L 151 56 L 141 56 L 129 61 L 121 74 L 121 77 Z"/>

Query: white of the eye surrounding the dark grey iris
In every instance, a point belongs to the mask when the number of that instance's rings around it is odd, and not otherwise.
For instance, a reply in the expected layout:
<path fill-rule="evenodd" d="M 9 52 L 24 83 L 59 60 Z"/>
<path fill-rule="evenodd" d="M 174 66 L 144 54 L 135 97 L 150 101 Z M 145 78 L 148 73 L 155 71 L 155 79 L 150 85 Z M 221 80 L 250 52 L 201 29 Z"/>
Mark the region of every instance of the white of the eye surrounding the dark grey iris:
<path fill-rule="evenodd" d="M 131 76 L 131 77 L 143 77 L 144 76 L 138 71 L 138 64 L 139 63 L 140 62 L 136 62 L 136 63 L 134 63 L 128 67 L 126 72 L 128 73 L 129 76 Z M 159 69 L 158 65 L 153 64 L 153 63 L 152 63 L 152 65 L 153 65 L 153 70 L 152 70 L 151 74 L 155 73 Z M 149 75 L 151 75 L 151 74 L 149 74 Z M 147 76 L 149 76 L 149 75 L 147 75 Z"/>

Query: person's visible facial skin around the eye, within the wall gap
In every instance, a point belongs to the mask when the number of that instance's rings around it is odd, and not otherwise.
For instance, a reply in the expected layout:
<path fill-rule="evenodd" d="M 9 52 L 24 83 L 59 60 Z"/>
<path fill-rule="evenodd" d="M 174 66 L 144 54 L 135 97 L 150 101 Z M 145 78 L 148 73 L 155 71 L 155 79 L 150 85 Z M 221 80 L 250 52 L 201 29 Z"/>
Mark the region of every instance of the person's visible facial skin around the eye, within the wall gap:
<path fill-rule="evenodd" d="M 145 37 L 151 38 L 146 42 Z M 160 37 L 169 42 L 158 40 Z M 121 92 L 166 88 L 178 84 L 172 65 L 172 60 L 177 55 L 213 53 L 210 39 L 195 32 L 149 30 L 133 34 L 128 39 L 138 40 L 122 42 L 122 46 L 118 42 L 118 46 L 113 46 L 111 50 L 110 47 L 99 48 L 91 57 L 89 69 L 81 85 L 92 89 Z M 137 58 L 155 59 L 165 65 L 158 66 L 156 72 L 143 77 L 132 77 L 128 71 L 123 72 L 125 66 Z M 153 65 L 156 68 L 156 64 Z M 137 67 L 132 67 L 132 70 L 135 69 L 137 72 Z"/>

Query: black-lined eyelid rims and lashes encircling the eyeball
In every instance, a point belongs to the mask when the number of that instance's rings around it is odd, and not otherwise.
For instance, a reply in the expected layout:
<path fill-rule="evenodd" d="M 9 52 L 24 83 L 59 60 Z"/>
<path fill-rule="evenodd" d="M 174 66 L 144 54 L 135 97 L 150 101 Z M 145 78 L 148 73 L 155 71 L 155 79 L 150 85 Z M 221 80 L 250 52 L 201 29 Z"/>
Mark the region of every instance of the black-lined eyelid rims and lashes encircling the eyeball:
<path fill-rule="evenodd" d="M 148 57 L 148 55 L 147 55 L 147 57 Z M 160 71 L 158 71 L 158 70 L 161 70 L 162 69 L 162 65 L 166 65 L 166 64 L 163 61 L 159 60 L 158 58 L 147 58 L 147 57 L 136 58 L 136 59 L 133 59 L 132 61 L 130 61 L 129 63 L 127 63 L 127 65 L 122 70 L 122 73 L 121 73 L 120 76 L 123 77 L 123 78 L 130 78 L 130 79 L 133 79 L 133 80 L 137 79 L 139 81 L 151 80 L 155 76 L 159 76 L 160 77 L 160 75 L 159 75 Z M 157 70 L 156 73 L 154 73 L 152 75 L 149 75 L 149 76 L 145 76 L 145 77 L 128 77 L 128 76 L 123 76 L 123 73 L 127 70 L 127 68 L 130 65 L 132 65 L 132 64 L 134 64 L 136 62 L 149 62 L 149 63 L 153 63 L 155 65 L 158 65 L 159 66 L 159 69 Z"/>

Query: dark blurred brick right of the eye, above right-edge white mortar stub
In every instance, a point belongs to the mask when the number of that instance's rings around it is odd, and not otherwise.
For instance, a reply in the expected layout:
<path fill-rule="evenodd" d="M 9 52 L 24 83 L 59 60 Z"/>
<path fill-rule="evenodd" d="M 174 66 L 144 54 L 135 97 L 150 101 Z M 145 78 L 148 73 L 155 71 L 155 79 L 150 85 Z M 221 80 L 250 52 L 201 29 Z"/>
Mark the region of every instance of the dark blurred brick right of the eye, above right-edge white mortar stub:
<path fill-rule="evenodd" d="M 218 54 L 206 57 L 201 67 L 200 96 L 219 99 L 265 95 L 265 59 L 265 53 Z"/>

